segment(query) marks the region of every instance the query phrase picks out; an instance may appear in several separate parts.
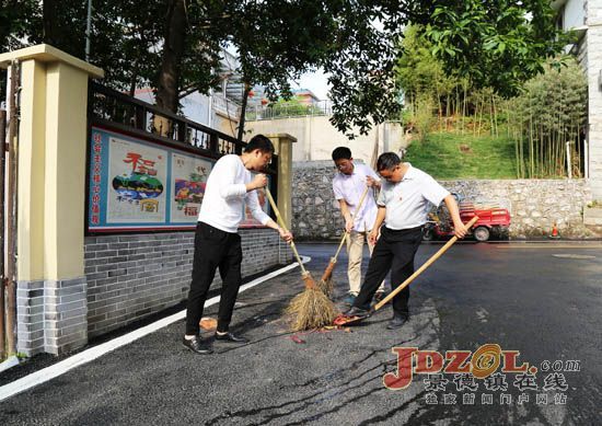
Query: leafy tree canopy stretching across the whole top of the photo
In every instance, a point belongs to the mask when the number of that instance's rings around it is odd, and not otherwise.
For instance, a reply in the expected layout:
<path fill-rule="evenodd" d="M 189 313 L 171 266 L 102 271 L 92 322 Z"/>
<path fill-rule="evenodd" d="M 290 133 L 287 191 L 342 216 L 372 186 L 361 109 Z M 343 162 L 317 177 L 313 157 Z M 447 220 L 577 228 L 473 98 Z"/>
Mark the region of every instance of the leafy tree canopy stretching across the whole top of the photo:
<path fill-rule="evenodd" d="M 25 21 L 27 43 L 53 41 L 83 57 L 83 3 L 45 0 L 44 25 Z M 559 48 L 552 13 L 548 0 L 102 0 L 91 59 L 109 84 L 148 82 L 157 103 L 174 112 L 181 95 L 216 83 L 227 45 L 238 49 L 243 82 L 265 85 L 271 99 L 322 67 L 333 124 L 366 133 L 400 110 L 397 46 L 410 23 L 425 28 L 445 70 L 511 94 Z"/>

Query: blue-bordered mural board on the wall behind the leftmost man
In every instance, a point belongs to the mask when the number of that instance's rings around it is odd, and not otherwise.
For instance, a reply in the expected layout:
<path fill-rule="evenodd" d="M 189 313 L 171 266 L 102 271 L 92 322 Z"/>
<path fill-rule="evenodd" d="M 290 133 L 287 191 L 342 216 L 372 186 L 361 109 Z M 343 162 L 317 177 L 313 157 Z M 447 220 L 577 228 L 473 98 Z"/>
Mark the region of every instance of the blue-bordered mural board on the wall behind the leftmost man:
<path fill-rule="evenodd" d="M 216 160 L 101 127 L 91 129 L 91 232 L 195 229 Z M 258 192 L 269 214 L 265 193 Z M 261 227 L 245 208 L 241 227 Z"/>

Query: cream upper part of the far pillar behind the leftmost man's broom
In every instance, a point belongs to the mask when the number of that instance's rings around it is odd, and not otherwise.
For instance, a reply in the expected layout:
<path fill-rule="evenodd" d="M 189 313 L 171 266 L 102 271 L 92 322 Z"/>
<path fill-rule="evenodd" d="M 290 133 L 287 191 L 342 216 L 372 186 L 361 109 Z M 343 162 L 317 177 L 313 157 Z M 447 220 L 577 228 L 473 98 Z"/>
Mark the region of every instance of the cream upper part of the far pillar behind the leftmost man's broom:
<path fill-rule="evenodd" d="M 290 229 L 292 220 L 292 143 L 297 142 L 297 138 L 289 134 L 266 136 L 271 139 L 278 154 L 278 209 L 287 228 Z"/>

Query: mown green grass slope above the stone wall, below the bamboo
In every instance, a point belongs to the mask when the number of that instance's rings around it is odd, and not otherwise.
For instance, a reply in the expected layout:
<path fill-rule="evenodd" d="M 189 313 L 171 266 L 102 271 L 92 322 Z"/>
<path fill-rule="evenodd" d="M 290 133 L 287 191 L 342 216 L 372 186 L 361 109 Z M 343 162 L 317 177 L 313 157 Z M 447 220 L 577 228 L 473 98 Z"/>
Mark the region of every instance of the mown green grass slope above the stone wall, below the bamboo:
<path fill-rule="evenodd" d="M 507 137 L 429 134 L 405 161 L 436 179 L 516 179 L 514 141 Z"/>

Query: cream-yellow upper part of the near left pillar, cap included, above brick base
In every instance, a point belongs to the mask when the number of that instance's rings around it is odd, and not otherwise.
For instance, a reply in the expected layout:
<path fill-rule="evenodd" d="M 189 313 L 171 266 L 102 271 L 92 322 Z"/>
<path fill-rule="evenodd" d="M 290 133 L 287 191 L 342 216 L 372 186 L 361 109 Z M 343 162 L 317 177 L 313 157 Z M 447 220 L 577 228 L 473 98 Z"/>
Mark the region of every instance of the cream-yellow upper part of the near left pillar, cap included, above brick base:
<path fill-rule="evenodd" d="M 89 77 L 103 70 L 49 45 L 0 55 L 21 65 L 19 280 L 81 278 Z"/>

